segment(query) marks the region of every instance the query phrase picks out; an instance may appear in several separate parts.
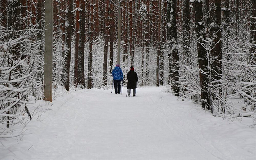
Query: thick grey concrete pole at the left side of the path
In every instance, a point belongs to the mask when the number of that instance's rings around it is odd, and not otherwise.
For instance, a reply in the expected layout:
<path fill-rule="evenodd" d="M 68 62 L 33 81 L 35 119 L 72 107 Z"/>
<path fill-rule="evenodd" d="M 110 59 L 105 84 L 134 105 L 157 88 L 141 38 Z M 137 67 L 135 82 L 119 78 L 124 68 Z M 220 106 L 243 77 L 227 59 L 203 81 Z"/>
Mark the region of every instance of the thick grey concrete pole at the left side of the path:
<path fill-rule="evenodd" d="M 45 0 L 44 100 L 52 102 L 52 0 Z"/>

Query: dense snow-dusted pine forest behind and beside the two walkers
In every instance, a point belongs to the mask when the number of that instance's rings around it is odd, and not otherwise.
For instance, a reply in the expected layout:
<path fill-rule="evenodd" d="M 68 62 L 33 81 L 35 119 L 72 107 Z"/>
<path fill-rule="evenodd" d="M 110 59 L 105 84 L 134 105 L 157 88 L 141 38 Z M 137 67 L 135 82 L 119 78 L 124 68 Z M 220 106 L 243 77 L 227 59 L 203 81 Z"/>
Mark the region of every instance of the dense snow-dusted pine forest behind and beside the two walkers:
<path fill-rule="evenodd" d="M 112 84 L 117 4 L 53 1 L 55 87 Z M 43 98 L 47 6 L 42 0 L 1 0 L 0 5 L 0 114 L 11 114 L 31 95 Z M 254 0 L 125 0 L 120 7 L 121 67 L 127 73 L 134 66 L 140 86 L 168 85 L 174 95 L 212 112 L 255 111 Z M 237 99 L 244 104 L 233 104 Z"/>

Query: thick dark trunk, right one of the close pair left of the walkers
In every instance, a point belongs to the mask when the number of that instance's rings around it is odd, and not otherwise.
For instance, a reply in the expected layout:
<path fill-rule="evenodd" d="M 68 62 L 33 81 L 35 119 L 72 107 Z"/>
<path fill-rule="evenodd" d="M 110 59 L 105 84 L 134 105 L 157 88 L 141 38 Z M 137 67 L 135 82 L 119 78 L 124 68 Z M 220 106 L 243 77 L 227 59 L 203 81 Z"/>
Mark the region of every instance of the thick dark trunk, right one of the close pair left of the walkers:
<path fill-rule="evenodd" d="M 84 42 L 85 42 L 85 0 L 79 0 L 79 46 L 77 58 L 77 83 L 81 88 L 85 88 L 84 84 Z"/>

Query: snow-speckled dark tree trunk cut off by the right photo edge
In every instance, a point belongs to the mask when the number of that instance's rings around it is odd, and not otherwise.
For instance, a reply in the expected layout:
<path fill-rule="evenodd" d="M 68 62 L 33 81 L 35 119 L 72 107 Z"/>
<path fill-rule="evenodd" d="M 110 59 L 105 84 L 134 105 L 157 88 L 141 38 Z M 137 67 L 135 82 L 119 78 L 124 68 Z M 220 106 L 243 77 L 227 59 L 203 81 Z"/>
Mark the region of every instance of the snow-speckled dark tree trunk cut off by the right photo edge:
<path fill-rule="evenodd" d="M 256 1 L 251 0 L 250 64 L 256 65 Z"/>

